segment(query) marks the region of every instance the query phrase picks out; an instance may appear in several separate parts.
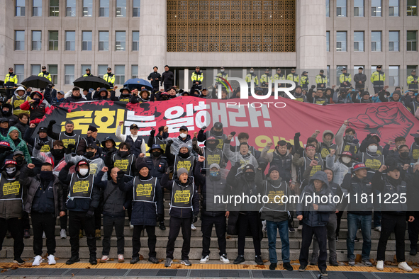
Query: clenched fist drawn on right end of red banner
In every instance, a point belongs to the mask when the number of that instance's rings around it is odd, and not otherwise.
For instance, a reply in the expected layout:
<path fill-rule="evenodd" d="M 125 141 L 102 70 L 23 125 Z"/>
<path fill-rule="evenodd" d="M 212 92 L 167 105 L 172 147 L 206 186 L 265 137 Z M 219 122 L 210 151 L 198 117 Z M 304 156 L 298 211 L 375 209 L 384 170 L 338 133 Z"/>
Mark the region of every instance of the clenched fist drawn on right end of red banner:
<path fill-rule="evenodd" d="M 357 132 L 375 133 L 383 142 L 388 142 L 396 137 L 407 137 L 414 123 L 407 117 L 408 110 L 380 106 L 367 108 L 365 113 L 357 118 L 348 119 L 348 124 Z"/>

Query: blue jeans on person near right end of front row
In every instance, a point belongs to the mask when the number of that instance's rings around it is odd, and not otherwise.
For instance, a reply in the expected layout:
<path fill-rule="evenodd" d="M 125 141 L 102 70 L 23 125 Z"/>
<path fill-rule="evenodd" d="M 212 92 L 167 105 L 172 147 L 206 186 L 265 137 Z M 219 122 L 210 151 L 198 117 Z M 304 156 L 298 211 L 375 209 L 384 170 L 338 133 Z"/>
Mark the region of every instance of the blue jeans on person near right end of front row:
<path fill-rule="evenodd" d="M 358 227 L 362 231 L 362 259 L 369 261 L 369 252 L 371 252 L 371 215 L 347 214 L 347 258 L 354 259 L 355 236 Z"/>

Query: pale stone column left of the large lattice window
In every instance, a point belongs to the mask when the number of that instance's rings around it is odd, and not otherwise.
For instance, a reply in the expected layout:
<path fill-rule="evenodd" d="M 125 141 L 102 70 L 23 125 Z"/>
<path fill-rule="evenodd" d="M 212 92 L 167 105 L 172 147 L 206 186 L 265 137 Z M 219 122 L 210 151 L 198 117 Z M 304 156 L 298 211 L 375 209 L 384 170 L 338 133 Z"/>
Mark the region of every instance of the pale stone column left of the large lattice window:
<path fill-rule="evenodd" d="M 141 1 L 138 76 L 146 79 L 152 67 L 166 64 L 166 0 Z M 170 65 L 169 65 L 170 66 Z"/>

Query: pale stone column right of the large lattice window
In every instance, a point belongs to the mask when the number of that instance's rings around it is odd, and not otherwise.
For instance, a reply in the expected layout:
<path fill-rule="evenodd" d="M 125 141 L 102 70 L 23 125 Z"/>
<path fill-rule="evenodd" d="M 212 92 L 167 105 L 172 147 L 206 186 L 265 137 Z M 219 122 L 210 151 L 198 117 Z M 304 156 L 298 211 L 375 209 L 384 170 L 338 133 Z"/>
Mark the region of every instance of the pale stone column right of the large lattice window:
<path fill-rule="evenodd" d="M 297 72 L 326 69 L 326 6 L 324 0 L 296 1 Z"/>

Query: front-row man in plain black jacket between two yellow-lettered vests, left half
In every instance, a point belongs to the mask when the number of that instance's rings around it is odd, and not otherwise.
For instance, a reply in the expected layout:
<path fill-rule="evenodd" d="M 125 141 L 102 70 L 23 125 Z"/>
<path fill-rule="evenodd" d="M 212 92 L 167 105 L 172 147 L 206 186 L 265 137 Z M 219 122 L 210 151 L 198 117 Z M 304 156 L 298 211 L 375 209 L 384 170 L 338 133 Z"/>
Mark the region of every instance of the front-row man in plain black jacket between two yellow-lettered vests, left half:
<path fill-rule="evenodd" d="M 118 249 L 118 263 L 123 263 L 124 258 L 124 236 L 123 228 L 125 226 L 125 208 L 128 208 L 130 201 L 126 198 L 126 193 L 120 190 L 123 185 L 123 172 L 118 168 L 111 170 L 111 180 L 102 181 L 104 173 L 108 168 L 104 166 L 99 171 L 94 181 L 94 186 L 104 191 L 104 240 L 102 241 L 101 263 L 109 260 L 109 251 L 111 250 L 112 229 L 115 227 L 116 247 Z"/>

